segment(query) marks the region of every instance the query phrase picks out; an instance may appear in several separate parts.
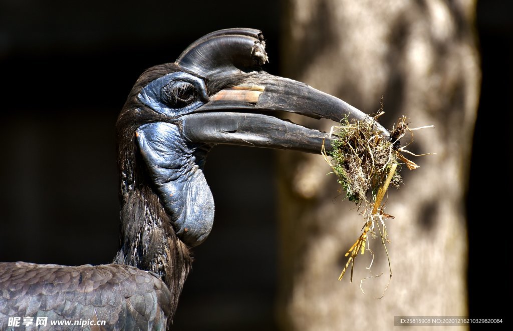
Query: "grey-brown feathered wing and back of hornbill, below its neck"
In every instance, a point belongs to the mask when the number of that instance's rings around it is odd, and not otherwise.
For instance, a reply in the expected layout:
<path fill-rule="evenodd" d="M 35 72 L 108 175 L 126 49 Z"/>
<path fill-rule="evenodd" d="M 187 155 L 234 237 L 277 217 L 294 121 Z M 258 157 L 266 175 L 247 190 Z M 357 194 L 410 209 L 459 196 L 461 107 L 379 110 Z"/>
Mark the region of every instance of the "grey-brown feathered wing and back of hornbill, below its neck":
<path fill-rule="evenodd" d="M 9 317 L 47 317 L 41 329 L 80 320 L 106 321 L 90 329 L 165 329 L 170 300 L 161 279 L 128 265 L 0 263 L 0 329 Z"/>

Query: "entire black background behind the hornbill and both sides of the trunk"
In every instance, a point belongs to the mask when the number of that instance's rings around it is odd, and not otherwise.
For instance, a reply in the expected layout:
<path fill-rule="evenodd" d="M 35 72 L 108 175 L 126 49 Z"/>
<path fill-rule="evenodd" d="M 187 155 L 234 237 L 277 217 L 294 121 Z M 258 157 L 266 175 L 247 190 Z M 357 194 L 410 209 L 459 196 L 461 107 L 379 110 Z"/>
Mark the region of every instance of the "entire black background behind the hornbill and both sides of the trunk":
<path fill-rule="evenodd" d="M 0 260 L 111 262 L 119 244 L 114 123 L 133 83 L 196 38 L 230 27 L 263 30 L 265 69 L 280 74 L 280 6 L 2 0 Z M 477 317 L 506 317 L 509 307 L 497 312 L 487 302 L 513 294 L 506 272 L 513 139 L 501 126 L 512 120 L 512 12 L 511 2 L 478 3 L 483 79 L 467 206 L 469 309 Z M 194 249 L 175 329 L 276 328 L 273 168 L 268 150 L 210 153 L 215 225 Z"/>

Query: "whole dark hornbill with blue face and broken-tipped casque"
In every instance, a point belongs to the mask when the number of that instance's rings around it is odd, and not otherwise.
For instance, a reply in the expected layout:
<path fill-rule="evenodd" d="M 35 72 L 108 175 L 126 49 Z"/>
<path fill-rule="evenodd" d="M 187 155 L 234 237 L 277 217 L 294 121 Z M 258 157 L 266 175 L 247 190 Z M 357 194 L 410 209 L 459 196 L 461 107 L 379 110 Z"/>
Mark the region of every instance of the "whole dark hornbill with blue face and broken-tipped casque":
<path fill-rule="evenodd" d="M 190 248 L 212 228 L 214 201 L 202 171 L 210 148 L 320 153 L 326 134 L 273 116 L 282 111 L 374 121 L 336 97 L 261 71 L 266 61 L 261 31 L 226 29 L 137 79 L 116 122 L 121 245 L 113 263 L 0 263 L 0 329 L 8 328 L 9 317 L 21 318 L 21 326 L 24 317 L 33 318 L 32 326 L 47 317 L 41 329 L 58 320 L 169 328 Z M 325 147 L 331 148 L 327 139 Z"/>

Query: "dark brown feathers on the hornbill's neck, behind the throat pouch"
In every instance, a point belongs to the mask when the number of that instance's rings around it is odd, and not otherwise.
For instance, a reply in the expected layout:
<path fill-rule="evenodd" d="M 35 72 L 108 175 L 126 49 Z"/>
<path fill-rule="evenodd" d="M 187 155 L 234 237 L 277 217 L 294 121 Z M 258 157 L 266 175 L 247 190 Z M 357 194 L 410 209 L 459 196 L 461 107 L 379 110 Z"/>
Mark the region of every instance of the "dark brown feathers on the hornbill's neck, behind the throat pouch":
<path fill-rule="evenodd" d="M 159 275 L 172 294 L 171 303 L 175 308 L 192 257 L 187 245 L 177 238 L 151 181 L 143 170 L 137 169 L 135 158 L 125 158 L 120 164 L 121 245 L 114 263 L 132 265 Z M 144 162 L 137 163 L 144 168 Z"/>

